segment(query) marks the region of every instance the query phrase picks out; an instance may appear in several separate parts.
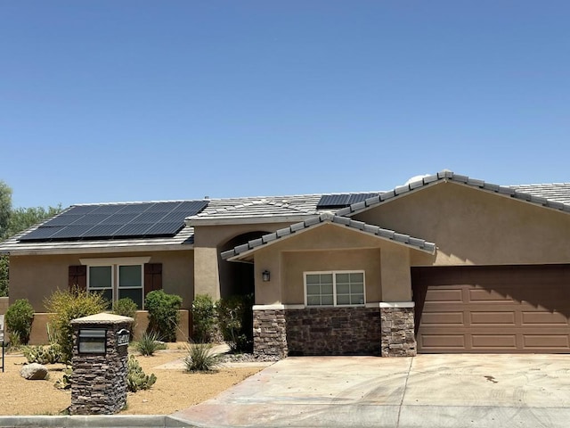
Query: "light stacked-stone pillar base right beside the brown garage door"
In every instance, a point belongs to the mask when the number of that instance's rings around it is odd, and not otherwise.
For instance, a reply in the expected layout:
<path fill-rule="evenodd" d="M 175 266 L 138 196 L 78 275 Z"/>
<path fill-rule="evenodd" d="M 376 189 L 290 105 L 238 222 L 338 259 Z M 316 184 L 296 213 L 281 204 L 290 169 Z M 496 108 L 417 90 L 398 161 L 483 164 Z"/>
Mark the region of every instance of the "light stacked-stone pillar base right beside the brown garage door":
<path fill-rule="evenodd" d="M 417 353 L 413 308 L 380 308 L 382 357 L 414 357 Z"/>

